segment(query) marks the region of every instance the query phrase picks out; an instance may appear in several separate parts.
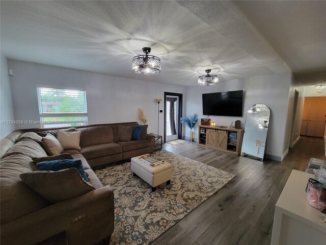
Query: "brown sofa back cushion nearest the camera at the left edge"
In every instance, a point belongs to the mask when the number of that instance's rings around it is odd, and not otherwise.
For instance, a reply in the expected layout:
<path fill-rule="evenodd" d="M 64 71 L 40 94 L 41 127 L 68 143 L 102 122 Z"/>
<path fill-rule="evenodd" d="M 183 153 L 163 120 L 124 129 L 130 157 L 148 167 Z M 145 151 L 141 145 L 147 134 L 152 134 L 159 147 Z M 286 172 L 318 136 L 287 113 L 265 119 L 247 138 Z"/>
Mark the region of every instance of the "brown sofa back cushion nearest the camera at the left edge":
<path fill-rule="evenodd" d="M 48 206 L 48 202 L 25 185 L 22 173 L 37 170 L 32 158 L 12 154 L 0 161 L 1 224 Z"/>

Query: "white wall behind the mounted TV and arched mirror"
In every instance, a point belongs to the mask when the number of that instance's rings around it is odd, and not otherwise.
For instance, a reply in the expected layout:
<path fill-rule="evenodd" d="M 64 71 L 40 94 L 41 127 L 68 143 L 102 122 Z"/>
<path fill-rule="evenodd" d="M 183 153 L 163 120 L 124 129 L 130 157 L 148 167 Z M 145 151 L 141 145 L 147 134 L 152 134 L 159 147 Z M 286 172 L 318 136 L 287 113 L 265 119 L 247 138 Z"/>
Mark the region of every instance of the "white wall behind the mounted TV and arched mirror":
<path fill-rule="evenodd" d="M 231 121 L 233 121 L 234 125 L 234 121 L 238 119 L 241 120 L 241 127 L 244 128 L 248 108 L 254 104 L 267 105 L 270 108 L 270 122 L 266 143 L 267 157 L 282 160 L 282 156 L 285 152 L 284 144 L 290 85 L 291 74 L 273 74 L 219 82 L 217 86 L 187 87 L 186 113 L 188 115 L 197 113 L 200 121 L 200 118 L 206 117 L 202 114 L 203 93 L 243 90 L 244 106 L 242 117 L 210 116 L 211 121 L 216 122 L 216 125 L 229 126 Z M 195 132 L 196 137 L 198 137 L 197 126 Z M 189 135 L 188 128 L 186 128 L 185 135 Z"/>

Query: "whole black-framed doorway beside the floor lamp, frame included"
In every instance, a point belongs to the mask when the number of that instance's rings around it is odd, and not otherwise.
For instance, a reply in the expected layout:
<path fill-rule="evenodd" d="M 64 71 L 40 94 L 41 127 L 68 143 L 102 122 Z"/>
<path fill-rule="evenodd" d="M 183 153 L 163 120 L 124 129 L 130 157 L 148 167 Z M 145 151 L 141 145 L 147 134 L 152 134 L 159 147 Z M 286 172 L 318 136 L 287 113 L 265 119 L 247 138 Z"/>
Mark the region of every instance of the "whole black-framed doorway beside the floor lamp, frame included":
<path fill-rule="evenodd" d="M 164 92 L 164 142 L 181 139 L 182 94 Z"/>

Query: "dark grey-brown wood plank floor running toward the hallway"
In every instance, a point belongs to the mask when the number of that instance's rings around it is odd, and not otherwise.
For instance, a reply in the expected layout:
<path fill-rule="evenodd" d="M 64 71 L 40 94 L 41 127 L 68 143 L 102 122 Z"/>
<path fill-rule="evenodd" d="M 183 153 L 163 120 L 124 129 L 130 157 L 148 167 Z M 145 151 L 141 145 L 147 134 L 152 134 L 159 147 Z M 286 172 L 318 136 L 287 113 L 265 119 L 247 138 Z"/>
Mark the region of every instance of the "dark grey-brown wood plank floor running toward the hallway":
<path fill-rule="evenodd" d="M 322 138 L 302 136 L 282 162 L 264 162 L 198 146 L 165 143 L 164 150 L 235 174 L 219 192 L 152 244 L 270 244 L 275 204 L 292 169 L 325 159 Z"/>

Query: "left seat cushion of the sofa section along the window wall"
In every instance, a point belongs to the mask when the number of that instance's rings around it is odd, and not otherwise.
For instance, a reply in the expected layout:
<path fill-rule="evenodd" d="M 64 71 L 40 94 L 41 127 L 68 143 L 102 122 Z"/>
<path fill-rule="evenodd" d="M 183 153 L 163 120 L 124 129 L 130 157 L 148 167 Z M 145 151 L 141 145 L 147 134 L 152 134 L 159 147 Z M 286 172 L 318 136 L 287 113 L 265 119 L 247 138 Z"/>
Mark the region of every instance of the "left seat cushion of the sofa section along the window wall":
<path fill-rule="evenodd" d="M 83 147 L 80 149 L 80 153 L 82 153 L 86 159 L 92 159 L 122 153 L 122 147 L 117 143 L 97 144 Z"/>

